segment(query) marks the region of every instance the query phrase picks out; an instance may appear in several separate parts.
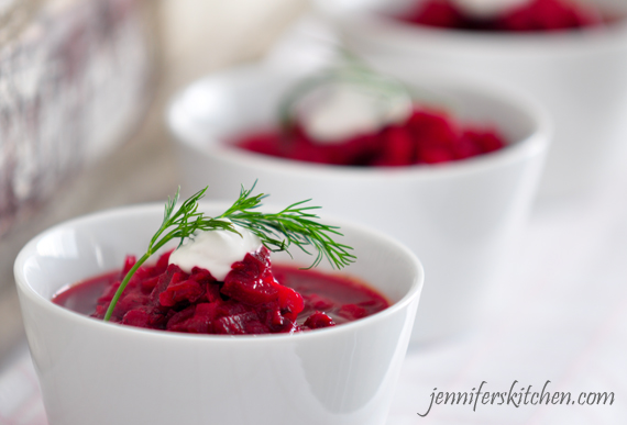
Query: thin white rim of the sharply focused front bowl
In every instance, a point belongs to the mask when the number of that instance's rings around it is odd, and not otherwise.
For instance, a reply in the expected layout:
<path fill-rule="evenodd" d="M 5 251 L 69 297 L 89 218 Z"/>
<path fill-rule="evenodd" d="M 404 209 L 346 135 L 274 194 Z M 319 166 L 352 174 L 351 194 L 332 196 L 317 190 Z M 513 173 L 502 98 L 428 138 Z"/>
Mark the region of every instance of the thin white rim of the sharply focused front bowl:
<path fill-rule="evenodd" d="M 212 208 L 219 208 L 222 205 L 229 205 L 229 204 L 222 201 L 204 201 L 200 203 L 200 209 L 210 210 Z M 272 208 L 273 205 L 268 204 L 264 206 Z M 367 317 L 363 317 L 353 322 L 344 323 L 342 325 L 329 328 L 315 329 L 314 332 L 308 331 L 308 332 L 299 332 L 294 334 L 262 334 L 262 335 L 208 335 L 208 334 L 185 334 L 176 332 L 165 332 L 158 329 L 146 329 L 134 326 L 127 326 L 117 323 L 105 323 L 100 320 L 92 318 L 82 315 L 80 313 L 70 311 L 68 309 L 65 309 L 61 305 L 54 304 L 50 299 L 46 299 L 45 297 L 41 295 L 37 291 L 35 291 L 28 282 L 24 276 L 24 268 L 26 266 L 28 260 L 30 258 L 33 258 L 33 256 L 36 256 L 36 245 L 44 237 L 47 237 L 53 233 L 59 232 L 61 230 L 68 228 L 72 226 L 85 225 L 87 223 L 95 223 L 98 221 L 116 220 L 129 214 L 154 214 L 162 216 L 163 208 L 164 206 L 161 203 L 142 203 L 142 204 L 120 206 L 120 208 L 112 208 L 64 221 L 37 234 L 32 239 L 30 239 L 20 250 L 13 265 L 15 284 L 18 288 L 18 293 L 20 295 L 20 299 L 22 297 L 28 298 L 31 303 L 36 305 L 37 309 L 43 310 L 46 313 L 46 315 L 63 317 L 64 320 L 73 322 L 76 325 L 92 327 L 95 331 L 102 332 L 106 334 L 109 332 L 114 332 L 114 333 L 121 333 L 120 335 L 127 335 L 131 337 L 136 336 L 136 337 L 152 338 L 152 339 L 156 338 L 163 340 L 172 339 L 172 340 L 199 342 L 194 344 L 224 344 L 226 342 L 229 342 L 227 344 L 232 345 L 232 344 L 248 344 L 251 340 L 272 342 L 275 339 L 282 343 L 289 343 L 298 340 L 299 338 L 306 338 L 306 339 L 321 338 L 321 337 L 323 338 L 324 335 L 332 336 L 338 333 L 355 332 L 360 328 L 367 327 L 369 324 L 372 322 L 385 320 L 386 317 L 397 314 L 398 312 L 407 309 L 413 302 L 419 299 L 420 292 L 424 287 L 425 282 L 424 267 L 420 260 L 417 258 L 417 256 L 407 246 L 375 228 L 364 226 L 359 223 L 352 223 L 345 220 L 336 219 L 327 214 L 321 216 L 324 220 L 329 220 L 333 224 L 339 225 L 340 227 L 344 226 L 351 227 L 352 231 L 356 231 L 359 233 L 365 233 L 369 237 L 372 237 L 380 242 L 384 242 L 389 246 L 394 246 L 396 249 L 398 249 L 399 253 L 404 254 L 404 256 L 410 261 L 411 268 L 415 270 L 416 276 L 413 278 L 413 282 L 407 292 L 403 295 L 403 298 L 392 303 L 387 309 L 377 312 L 373 315 L 370 315 Z M 153 255 L 153 257 L 156 255 L 158 255 L 158 253 Z M 350 273 L 348 275 L 350 276 Z M 97 276 L 97 272 L 95 272 L 95 276 Z M 88 279 L 88 277 L 86 279 Z"/>

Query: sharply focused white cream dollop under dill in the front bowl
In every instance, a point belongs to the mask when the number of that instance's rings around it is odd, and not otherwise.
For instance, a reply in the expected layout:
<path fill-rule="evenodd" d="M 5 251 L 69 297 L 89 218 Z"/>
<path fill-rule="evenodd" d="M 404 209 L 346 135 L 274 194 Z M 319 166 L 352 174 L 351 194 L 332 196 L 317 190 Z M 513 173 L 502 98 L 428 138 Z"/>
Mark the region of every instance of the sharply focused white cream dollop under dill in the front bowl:
<path fill-rule="evenodd" d="M 199 233 L 172 253 L 169 264 L 177 265 L 187 273 L 194 267 L 200 267 L 219 281 L 224 280 L 233 262 L 243 260 L 248 253 L 254 253 L 262 246 L 256 235 L 237 224 L 234 227 L 241 236 L 228 231 Z"/>

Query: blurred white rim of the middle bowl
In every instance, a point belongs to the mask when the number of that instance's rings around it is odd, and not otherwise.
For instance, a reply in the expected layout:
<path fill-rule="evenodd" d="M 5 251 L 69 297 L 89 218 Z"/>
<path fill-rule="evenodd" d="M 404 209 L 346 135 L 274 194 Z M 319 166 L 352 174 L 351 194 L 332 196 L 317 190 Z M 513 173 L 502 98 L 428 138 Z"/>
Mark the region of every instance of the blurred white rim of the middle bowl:
<path fill-rule="evenodd" d="M 503 149 L 461 160 L 444 164 L 419 164 L 403 167 L 353 167 L 278 158 L 239 149 L 233 146 L 229 146 L 227 143 L 210 146 L 210 144 L 201 144 L 201 142 L 195 139 L 195 137 L 186 135 L 184 126 L 178 125 L 176 116 L 179 114 L 179 110 L 184 109 L 183 104 L 185 99 L 190 96 L 190 93 L 207 90 L 207 87 L 213 85 L 216 81 L 227 79 L 229 80 L 229 83 L 237 83 L 239 79 L 245 79 L 249 76 L 258 72 L 267 72 L 268 75 L 276 74 L 277 76 L 286 74 L 286 71 L 279 71 L 276 68 L 265 66 L 264 64 L 244 64 L 209 74 L 196 81 L 193 81 L 176 92 L 165 110 L 165 121 L 174 141 L 177 144 L 199 153 L 200 155 L 208 155 L 228 164 L 243 166 L 248 169 L 254 170 L 273 170 L 273 172 L 289 174 L 290 176 L 299 177 L 319 177 L 323 174 L 330 178 L 414 180 L 455 177 L 460 175 L 481 172 L 485 168 L 516 163 L 521 158 L 535 156 L 547 150 L 548 143 L 553 134 L 553 123 L 546 107 L 538 102 L 534 97 L 517 88 L 507 83 L 463 77 L 455 72 L 436 74 L 420 69 L 416 70 L 414 74 L 419 74 L 421 78 L 425 78 L 427 82 L 426 86 L 437 85 L 444 89 L 464 90 L 475 96 L 509 104 L 519 113 L 527 115 L 527 118 L 534 123 L 535 130 L 528 135 L 528 137 L 514 141 Z M 287 75 L 298 76 L 302 75 L 302 71 L 287 71 Z M 399 79 L 403 80 L 403 78 Z"/>

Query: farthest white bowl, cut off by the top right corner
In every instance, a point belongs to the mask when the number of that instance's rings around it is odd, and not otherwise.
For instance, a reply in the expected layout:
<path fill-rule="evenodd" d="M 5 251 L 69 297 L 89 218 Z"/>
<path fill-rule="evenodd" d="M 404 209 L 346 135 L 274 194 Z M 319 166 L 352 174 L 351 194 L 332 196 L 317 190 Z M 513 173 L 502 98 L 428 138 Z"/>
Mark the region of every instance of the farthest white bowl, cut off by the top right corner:
<path fill-rule="evenodd" d="M 616 166 L 627 138 L 627 20 L 556 33 L 480 33 L 387 18 L 413 0 L 316 0 L 358 55 L 383 69 L 463 72 L 532 94 L 556 135 L 540 184 L 544 198 L 584 193 Z M 627 14 L 623 0 L 605 0 Z"/>

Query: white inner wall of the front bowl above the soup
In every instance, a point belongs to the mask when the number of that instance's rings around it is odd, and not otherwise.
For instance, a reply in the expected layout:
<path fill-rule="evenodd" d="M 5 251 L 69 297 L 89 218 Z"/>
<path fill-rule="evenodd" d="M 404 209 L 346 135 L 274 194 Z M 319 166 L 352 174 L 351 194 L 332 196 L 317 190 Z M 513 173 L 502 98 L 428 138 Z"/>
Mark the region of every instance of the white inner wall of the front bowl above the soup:
<path fill-rule="evenodd" d="M 206 204 L 204 210 L 218 215 L 226 206 Z M 162 217 L 163 205 L 144 205 L 98 213 L 53 227 L 20 253 L 15 264 L 18 284 L 33 297 L 50 300 L 67 286 L 120 269 L 127 255 L 143 255 Z M 359 258 L 343 273 L 367 282 L 392 303 L 419 293 L 422 271 L 408 249 L 369 230 L 341 226 L 345 234 L 342 243 L 352 246 Z M 272 260 L 300 267 L 308 267 L 314 260 L 298 249 L 292 254 L 294 260 L 285 253 L 273 254 Z M 331 270 L 327 262 L 320 267 Z"/>

